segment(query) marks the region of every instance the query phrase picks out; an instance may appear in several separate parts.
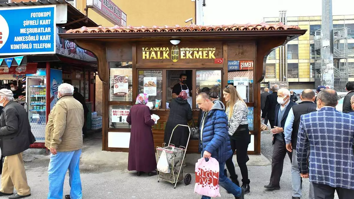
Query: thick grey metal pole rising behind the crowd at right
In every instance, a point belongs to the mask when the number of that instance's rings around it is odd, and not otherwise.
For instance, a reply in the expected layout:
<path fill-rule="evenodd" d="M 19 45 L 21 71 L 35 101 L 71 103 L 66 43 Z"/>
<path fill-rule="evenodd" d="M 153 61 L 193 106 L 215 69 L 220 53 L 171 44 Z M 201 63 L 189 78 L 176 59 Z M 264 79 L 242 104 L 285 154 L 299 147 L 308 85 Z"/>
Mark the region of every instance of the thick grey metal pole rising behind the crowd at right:
<path fill-rule="evenodd" d="M 332 0 L 322 0 L 321 85 L 334 89 Z"/>

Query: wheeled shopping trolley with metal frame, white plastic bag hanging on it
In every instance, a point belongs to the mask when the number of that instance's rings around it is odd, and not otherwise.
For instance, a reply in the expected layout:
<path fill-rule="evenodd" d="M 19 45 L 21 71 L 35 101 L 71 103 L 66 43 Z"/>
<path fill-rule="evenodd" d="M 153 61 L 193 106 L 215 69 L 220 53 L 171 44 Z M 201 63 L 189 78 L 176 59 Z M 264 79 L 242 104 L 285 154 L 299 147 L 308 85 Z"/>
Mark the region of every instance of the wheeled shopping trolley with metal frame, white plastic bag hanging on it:
<path fill-rule="evenodd" d="M 177 148 L 175 147 L 175 145 L 171 144 L 171 138 L 173 136 L 173 132 L 178 126 L 185 126 L 188 127 L 189 129 L 188 141 L 185 147 L 180 146 L 179 148 Z M 166 143 L 163 143 L 162 147 L 156 147 L 158 159 L 160 159 L 162 151 L 166 152 L 167 162 L 169 163 L 169 167 L 170 167 L 169 173 L 159 172 L 158 182 L 160 182 L 160 180 L 164 180 L 172 184 L 175 184 L 174 189 L 176 189 L 177 182 L 183 180 L 185 185 L 190 184 L 190 181 L 192 180 L 192 176 L 190 174 L 187 175 L 184 174 L 184 167 L 185 167 L 184 158 L 185 158 L 185 153 L 187 152 L 189 138 L 190 138 L 189 126 L 177 124 L 177 126 L 172 130 L 169 144 L 166 146 Z M 183 173 L 183 175 L 181 175 L 181 172 Z"/>

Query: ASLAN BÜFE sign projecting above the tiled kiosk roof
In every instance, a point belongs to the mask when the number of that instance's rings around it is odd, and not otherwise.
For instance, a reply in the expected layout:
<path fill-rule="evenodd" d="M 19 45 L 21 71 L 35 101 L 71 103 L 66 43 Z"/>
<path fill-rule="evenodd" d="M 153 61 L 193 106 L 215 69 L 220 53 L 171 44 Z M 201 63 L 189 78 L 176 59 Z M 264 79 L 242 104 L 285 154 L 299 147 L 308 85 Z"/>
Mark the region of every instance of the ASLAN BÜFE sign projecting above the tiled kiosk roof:
<path fill-rule="evenodd" d="M 91 0 L 87 5 L 93 6 L 103 17 L 108 17 L 109 21 L 115 25 L 127 26 L 127 15 L 116 6 L 111 0 Z"/>

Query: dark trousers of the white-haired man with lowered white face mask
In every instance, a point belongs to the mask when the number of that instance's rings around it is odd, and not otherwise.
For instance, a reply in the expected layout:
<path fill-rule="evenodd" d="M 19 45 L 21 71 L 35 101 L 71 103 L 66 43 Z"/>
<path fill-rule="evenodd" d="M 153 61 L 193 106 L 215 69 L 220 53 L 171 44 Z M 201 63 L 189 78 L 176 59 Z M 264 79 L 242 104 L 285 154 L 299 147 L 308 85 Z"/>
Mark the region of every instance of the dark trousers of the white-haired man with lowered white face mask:
<path fill-rule="evenodd" d="M 274 137 L 273 157 L 272 157 L 272 173 L 270 174 L 269 183 L 273 186 L 279 186 L 280 177 L 283 172 L 284 158 L 286 154 L 289 155 L 290 162 L 292 153 L 286 150 L 285 142 Z M 297 160 L 295 160 L 297 161 Z"/>

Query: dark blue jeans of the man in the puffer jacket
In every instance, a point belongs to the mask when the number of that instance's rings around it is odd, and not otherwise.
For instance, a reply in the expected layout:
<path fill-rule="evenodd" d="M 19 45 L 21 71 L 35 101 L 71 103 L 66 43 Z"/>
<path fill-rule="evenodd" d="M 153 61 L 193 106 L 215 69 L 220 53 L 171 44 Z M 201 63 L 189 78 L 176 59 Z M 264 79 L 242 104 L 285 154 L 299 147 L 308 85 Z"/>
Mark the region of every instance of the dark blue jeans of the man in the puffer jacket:
<path fill-rule="evenodd" d="M 224 169 L 225 162 L 219 163 L 219 186 L 224 187 L 226 191 L 232 193 L 235 197 L 240 197 L 242 192 L 241 188 L 224 175 Z M 210 197 L 203 195 L 201 199 L 210 199 Z"/>

